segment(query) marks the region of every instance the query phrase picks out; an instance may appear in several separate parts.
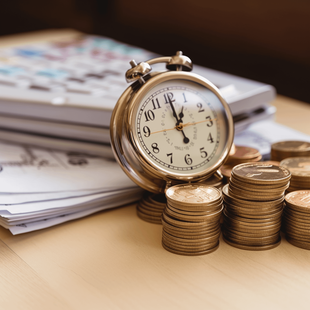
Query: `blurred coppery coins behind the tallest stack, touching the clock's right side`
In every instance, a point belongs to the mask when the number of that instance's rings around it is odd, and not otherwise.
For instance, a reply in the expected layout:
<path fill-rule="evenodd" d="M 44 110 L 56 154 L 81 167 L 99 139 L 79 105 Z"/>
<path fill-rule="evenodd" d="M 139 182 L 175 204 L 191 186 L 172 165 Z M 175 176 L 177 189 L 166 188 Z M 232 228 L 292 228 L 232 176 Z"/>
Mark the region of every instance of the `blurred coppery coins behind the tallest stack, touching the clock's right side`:
<path fill-rule="evenodd" d="M 262 159 L 262 155 L 256 148 L 250 148 L 247 146 L 234 146 L 234 152 L 229 152 L 229 156 L 225 165 L 220 168 L 221 173 L 226 177 L 226 183 L 228 183 L 231 177 L 231 170 L 234 166 L 245 162 L 259 162 Z"/>

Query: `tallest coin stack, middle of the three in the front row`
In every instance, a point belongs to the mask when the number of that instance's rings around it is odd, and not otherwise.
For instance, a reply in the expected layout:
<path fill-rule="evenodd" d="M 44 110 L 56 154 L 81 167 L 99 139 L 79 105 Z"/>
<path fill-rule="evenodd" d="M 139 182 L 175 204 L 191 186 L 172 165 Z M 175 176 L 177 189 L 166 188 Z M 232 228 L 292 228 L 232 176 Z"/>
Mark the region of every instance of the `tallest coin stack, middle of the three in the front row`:
<path fill-rule="evenodd" d="M 244 250 L 268 250 L 281 242 L 284 192 L 290 171 L 264 163 L 245 163 L 232 169 L 224 199 L 223 238 Z"/>

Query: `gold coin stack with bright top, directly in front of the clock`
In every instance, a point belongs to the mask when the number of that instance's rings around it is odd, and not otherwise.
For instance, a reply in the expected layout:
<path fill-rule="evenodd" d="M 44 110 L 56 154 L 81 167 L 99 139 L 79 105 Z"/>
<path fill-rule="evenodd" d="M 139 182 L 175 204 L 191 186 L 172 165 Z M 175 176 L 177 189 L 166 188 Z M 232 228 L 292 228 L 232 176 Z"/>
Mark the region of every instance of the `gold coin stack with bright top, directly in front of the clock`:
<path fill-rule="evenodd" d="M 222 193 L 203 184 L 182 184 L 166 191 L 162 246 L 179 255 L 204 255 L 219 247 Z"/>

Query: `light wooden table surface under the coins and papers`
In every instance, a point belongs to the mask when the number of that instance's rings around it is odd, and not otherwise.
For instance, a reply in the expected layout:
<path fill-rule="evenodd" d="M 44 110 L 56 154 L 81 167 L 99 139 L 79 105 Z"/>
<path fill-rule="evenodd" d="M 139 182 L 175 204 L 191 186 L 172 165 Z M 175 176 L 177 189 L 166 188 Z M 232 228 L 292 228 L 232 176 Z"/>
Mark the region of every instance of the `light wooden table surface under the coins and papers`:
<path fill-rule="evenodd" d="M 1 44 L 0 44 L 1 45 Z M 310 105 L 278 96 L 277 122 L 310 134 Z M 135 205 L 13 236 L 0 227 L 0 308 L 309 309 L 310 251 L 174 255 Z"/>

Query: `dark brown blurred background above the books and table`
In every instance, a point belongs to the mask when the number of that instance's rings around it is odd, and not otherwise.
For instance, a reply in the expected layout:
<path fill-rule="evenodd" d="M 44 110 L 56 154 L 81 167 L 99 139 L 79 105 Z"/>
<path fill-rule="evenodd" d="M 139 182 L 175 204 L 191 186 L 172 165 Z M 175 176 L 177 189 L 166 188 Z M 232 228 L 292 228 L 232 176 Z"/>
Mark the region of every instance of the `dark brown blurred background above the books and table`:
<path fill-rule="evenodd" d="M 74 28 L 272 84 L 310 103 L 309 0 L 15 0 L 0 34 Z"/>

